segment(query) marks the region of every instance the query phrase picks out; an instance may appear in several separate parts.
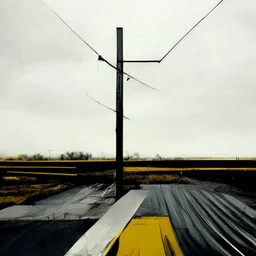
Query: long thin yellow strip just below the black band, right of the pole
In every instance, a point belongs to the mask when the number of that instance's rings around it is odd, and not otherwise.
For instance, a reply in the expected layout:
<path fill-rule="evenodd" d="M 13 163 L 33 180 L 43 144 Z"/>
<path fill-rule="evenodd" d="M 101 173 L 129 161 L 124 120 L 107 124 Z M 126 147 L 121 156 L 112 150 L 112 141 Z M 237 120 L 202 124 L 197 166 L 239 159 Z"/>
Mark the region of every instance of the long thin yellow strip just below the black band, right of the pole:
<path fill-rule="evenodd" d="M 161 167 L 125 167 L 126 172 L 150 172 L 150 171 L 256 171 L 256 168 L 161 168 Z"/>

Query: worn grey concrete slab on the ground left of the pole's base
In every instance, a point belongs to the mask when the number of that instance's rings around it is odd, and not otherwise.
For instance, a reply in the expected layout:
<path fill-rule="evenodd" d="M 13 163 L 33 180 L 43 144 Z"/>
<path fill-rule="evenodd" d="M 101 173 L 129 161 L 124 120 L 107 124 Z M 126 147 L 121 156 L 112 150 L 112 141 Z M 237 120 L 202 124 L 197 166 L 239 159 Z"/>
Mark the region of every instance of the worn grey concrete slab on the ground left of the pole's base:
<path fill-rule="evenodd" d="M 0 220 L 99 219 L 115 201 L 115 187 L 103 184 L 80 186 L 38 201 L 0 211 Z"/>

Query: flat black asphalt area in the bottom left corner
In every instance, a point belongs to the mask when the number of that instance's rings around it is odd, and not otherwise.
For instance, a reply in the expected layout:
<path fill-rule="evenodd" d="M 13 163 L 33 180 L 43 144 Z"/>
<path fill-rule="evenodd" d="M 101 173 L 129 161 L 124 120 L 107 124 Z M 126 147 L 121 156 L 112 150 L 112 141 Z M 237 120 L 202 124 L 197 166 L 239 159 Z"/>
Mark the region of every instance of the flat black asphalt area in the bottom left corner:
<path fill-rule="evenodd" d="M 0 255 L 63 256 L 95 222 L 0 221 Z"/>

